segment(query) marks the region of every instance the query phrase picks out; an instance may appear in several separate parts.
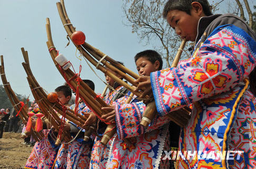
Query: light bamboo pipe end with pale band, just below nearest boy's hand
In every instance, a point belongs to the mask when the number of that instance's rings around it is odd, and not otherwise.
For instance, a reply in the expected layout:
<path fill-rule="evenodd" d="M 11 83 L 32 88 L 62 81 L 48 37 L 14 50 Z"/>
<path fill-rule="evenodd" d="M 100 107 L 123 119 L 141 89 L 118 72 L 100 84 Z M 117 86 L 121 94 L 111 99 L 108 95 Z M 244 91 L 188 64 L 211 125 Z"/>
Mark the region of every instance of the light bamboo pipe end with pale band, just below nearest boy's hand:
<path fill-rule="evenodd" d="M 147 104 L 147 107 L 143 113 L 143 118 L 141 119 L 140 125 L 143 125 L 145 128 L 151 123 L 152 119 L 157 113 L 155 101 Z"/>

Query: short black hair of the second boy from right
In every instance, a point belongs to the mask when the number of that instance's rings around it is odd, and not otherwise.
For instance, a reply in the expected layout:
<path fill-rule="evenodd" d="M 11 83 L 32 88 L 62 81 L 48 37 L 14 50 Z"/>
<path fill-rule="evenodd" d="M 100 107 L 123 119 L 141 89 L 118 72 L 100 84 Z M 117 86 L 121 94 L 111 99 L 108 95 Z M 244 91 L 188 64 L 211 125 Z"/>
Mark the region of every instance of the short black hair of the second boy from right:
<path fill-rule="evenodd" d="M 158 54 L 157 51 L 155 50 L 144 50 L 139 52 L 138 54 L 135 55 L 134 60 L 135 62 L 141 58 L 145 57 L 148 61 L 150 61 L 152 64 L 155 64 L 155 62 L 158 60 L 159 61 L 159 68 L 158 70 L 162 70 L 163 67 L 163 59 L 162 57 Z"/>

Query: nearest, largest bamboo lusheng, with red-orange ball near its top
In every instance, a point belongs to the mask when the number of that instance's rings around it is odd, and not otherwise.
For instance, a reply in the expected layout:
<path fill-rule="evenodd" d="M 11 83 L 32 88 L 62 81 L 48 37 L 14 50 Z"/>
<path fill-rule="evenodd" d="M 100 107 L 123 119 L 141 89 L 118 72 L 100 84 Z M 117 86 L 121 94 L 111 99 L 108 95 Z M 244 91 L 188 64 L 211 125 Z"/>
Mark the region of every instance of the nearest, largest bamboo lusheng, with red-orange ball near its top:
<path fill-rule="evenodd" d="M 73 25 L 70 22 L 70 19 L 68 18 L 68 15 L 64 6 L 64 1 L 61 0 L 61 3 L 58 2 L 56 3 L 56 5 L 58 7 L 58 12 L 59 12 L 62 24 L 65 30 L 67 31 L 68 36 L 71 38 L 72 33 L 75 32 L 75 28 L 73 27 Z M 108 69 L 119 73 L 119 75 L 121 75 L 122 78 L 130 82 L 135 87 L 137 87 L 137 84 L 134 83 L 134 80 L 139 78 L 139 76 L 136 73 L 127 69 L 123 65 L 119 64 L 117 61 L 111 59 L 106 54 L 103 54 L 103 52 L 101 52 L 99 49 L 94 48 L 93 46 L 91 46 L 86 42 L 84 42 L 84 44 L 82 45 L 79 45 L 79 46 L 75 45 L 75 46 L 77 47 L 77 49 L 79 49 L 79 51 L 84 56 L 84 58 L 90 61 L 91 64 L 94 65 L 97 69 L 105 73 L 105 75 L 108 75 L 109 77 L 117 81 L 120 85 L 124 86 L 129 91 L 136 94 L 136 96 L 141 95 L 141 92 L 134 91 L 134 88 L 132 88 L 132 86 L 128 85 L 128 83 L 122 81 L 117 76 L 113 75 L 110 71 L 108 71 Z M 106 69 L 105 67 L 107 67 L 108 69 Z M 140 98 L 140 99 L 150 99 L 150 98 L 146 96 L 145 98 Z M 153 102 L 151 104 L 153 104 Z M 154 110 L 156 112 L 156 109 Z M 189 109 L 185 108 L 185 109 L 178 110 L 178 112 L 176 112 L 175 114 L 174 113 L 167 114 L 167 117 L 170 118 L 172 121 L 174 121 L 176 124 L 180 126 L 185 126 L 190 118 L 189 114 L 190 114 Z M 147 126 L 148 122 L 145 123 L 145 126 Z"/>

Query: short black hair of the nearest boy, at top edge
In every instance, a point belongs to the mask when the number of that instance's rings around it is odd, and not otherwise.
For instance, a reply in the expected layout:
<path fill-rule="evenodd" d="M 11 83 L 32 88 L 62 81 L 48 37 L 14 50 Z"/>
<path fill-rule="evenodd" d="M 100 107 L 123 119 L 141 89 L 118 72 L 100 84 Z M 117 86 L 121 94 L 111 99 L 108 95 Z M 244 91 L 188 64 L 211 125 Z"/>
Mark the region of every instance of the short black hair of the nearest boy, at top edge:
<path fill-rule="evenodd" d="M 202 5 L 204 14 L 206 16 L 212 15 L 211 6 L 207 0 L 169 0 L 164 7 L 163 16 L 167 17 L 167 14 L 170 10 L 181 10 L 186 12 L 188 15 L 191 15 L 190 10 L 192 8 L 191 3 L 198 2 Z"/>

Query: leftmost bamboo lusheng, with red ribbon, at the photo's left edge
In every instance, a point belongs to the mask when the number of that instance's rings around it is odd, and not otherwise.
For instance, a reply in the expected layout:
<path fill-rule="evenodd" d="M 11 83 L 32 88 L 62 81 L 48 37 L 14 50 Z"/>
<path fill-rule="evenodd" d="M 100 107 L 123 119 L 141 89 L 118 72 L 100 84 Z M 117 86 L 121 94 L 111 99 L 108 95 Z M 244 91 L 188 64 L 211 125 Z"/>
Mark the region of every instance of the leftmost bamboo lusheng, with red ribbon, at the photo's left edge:
<path fill-rule="evenodd" d="M 17 113 L 20 112 L 20 113 L 18 113 L 18 116 L 21 118 L 22 122 L 24 124 L 26 124 L 27 120 L 29 119 L 29 115 L 27 115 L 27 110 L 25 110 L 25 108 L 21 105 L 20 100 L 18 100 L 16 94 L 14 93 L 14 91 L 11 88 L 10 83 L 6 79 L 5 70 L 4 70 L 4 57 L 3 57 L 3 55 L 1 56 L 0 72 L 1 72 L 1 79 L 2 79 L 2 82 L 3 82 L 5 92 L 8 96 L 8 98 L 9 98 L 9 100 L 11 101 L 15 111 Z M 42 132 L 35 132 L 34 128 L 31 128 L 31 131 L 29 133 L 33 136 L 33 138 L 36 141 L 40 141 L 44 137 Z M 29 133 L 26 132 L 25 135 L 27 136 Z"/>

